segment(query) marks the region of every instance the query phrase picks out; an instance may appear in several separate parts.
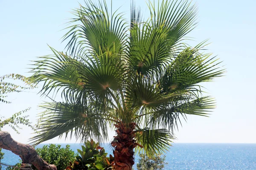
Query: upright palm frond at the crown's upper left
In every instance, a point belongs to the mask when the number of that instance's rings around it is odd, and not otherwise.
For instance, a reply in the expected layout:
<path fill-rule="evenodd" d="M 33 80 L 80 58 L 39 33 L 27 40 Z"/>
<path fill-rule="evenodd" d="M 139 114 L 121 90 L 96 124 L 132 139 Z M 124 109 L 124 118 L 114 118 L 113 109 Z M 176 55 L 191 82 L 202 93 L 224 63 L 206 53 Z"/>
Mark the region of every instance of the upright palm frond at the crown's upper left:
<path fill-rule="evenodd" d="M 78 18 L 72 19 L 70 23 L 79 21 L 80 24 L 67 27 L 70 31 L 64 35 L 64 40 L 70 39 L 66 47 L 71 54 L 81 54 L 85 49 L 93 50 L 98 55 L 124 53 L 128 25 L 122 13 L 114 11 L 110 16 L 105 0 L 98 5 L 88 0 L 85 6 L 80 6 L 73 14 Z"/>

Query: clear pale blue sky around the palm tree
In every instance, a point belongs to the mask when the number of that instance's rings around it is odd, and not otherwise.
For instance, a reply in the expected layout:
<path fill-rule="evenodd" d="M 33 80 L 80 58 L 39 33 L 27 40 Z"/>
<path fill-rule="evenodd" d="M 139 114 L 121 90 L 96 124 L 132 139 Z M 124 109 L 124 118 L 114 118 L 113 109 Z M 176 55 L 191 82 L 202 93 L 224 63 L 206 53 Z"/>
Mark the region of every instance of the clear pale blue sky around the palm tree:
<path fill-rule="evenodd" d="M 110 0 L 107 0 L 110 4 Z M 145 0 L 135 0 L 147 18 Z M 199 24 L 189 37 L 195 45 L 203 40 L 212 42 L 209 52 L 223 61 L 225 77 L 205 84 L 207 92 L 217 100 L 217 108 L 210 117 L 188 116 L 187 123 L 175 132 L 175 142 L 204 143 L 256 143 L 256 1 L 254 0 L 193 0 L 198 6 Z M 83 0 L 0 0 L 0 75 L 17 73 L 29 76 L 30 60 L 51 54 L 47 44 L 64 51 L 61 37 L 69 11 L 79 7 Z M 130 0 L 113 0 L 113 9 L 127 13 Z M 40 87 L 39 87 L 40 88 Z M 0 104 L 0 115 L 31 107 L 27 112 L 35 123 L 37 105 L 45 98 L 33 93 L 10 94 L 12 104 Z M 26 143 L 32 130 L 23 127 L 17 135 L 9 131 L 18 142 Z M 113 136 L 113 134 L 111 134 Z M 110 138 L 111 139 L 111 138 Z M 47 143 L 75 142 L 74 139 L 52 139 Z"/>

